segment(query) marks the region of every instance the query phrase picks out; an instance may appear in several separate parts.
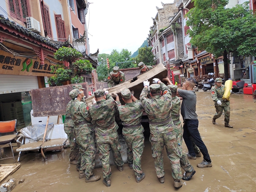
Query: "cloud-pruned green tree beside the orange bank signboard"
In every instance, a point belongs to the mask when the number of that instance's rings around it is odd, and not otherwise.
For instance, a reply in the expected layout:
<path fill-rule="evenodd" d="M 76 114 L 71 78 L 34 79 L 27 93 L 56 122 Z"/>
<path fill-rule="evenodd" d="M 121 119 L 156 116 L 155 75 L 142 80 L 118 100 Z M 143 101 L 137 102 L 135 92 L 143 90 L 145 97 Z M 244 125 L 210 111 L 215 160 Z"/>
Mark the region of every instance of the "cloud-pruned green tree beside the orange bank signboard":
<path fill-rule="evenodd" d="M 65 81 L 71 81 L 71 83 L 82 83 L 83 78 L 81 74 L 92 73 L 93 67 L 90 61 L 81 60 L 83 55 L 74 48 L 64 47 L 59 48 L 56 53 L 54 53 L 54 58 L 60 61 L 67 61 L 69 66 L 57 65 L 52 66 L 52 73 L 54 76 L 48 78 L 48 82 L 51 86 L 60 86 Z M 80 60 L 79 60 L 80 59 Z M 54 72 L 55 70 L 55 72 Z"/>

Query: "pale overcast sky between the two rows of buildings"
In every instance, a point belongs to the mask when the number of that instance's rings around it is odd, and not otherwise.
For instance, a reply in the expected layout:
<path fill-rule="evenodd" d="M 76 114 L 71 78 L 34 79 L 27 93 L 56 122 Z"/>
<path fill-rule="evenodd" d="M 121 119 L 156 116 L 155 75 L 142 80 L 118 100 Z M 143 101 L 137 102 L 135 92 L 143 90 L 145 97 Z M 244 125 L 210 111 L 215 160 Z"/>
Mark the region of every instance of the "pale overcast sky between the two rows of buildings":
<path fill-rule="evenodd" d="M 88 4 L 90 53 L 99 48 L 99 54 L 110 54 L 113 49 L 128 49 L 133 54 L 148 37 L 156 6 L 162 8 L 161 0 L 88 0 Z"/>

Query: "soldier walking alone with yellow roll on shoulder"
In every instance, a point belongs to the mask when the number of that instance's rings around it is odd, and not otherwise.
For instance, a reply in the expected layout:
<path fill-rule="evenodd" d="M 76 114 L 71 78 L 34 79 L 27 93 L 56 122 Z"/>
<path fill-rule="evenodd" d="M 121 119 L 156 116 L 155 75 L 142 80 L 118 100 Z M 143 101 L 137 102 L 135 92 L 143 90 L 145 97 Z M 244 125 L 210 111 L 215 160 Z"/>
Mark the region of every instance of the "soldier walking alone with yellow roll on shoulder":
<path fill-rule="evenodd" d="M 222 79 L 216 78 L 216 85 L 212 87 L 212 100 L 214 101 L 214 105 L 216 108 L 216 113 L 213 116 L 212 123 L 216 123 L 216 119 L 218 119 L 224 110 L 224 122 L 225 127 L 233 128 L 233 126 L 229 125 L 229 116 L 230 116 L 230 107 L 229 101 L 222 100 L 222 96 L 225 92 L 225 86 L 222 85 Z"/>

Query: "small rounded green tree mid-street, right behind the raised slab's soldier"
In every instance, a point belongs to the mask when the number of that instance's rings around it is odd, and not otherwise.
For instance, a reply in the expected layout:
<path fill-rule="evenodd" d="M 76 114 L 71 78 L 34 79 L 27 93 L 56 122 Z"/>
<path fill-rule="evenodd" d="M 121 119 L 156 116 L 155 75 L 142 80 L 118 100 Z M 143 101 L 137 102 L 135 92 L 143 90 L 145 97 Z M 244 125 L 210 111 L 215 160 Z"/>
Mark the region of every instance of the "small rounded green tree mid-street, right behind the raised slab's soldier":
<path fill-rule="evenodd" d="M 144 46 L 139 49 L 137 57 L 135 57 L 136 63 L 139 64 L 141 61 L 147 66 L 154 65 L 154 55 L 152 53 L 152 47 Z"/>

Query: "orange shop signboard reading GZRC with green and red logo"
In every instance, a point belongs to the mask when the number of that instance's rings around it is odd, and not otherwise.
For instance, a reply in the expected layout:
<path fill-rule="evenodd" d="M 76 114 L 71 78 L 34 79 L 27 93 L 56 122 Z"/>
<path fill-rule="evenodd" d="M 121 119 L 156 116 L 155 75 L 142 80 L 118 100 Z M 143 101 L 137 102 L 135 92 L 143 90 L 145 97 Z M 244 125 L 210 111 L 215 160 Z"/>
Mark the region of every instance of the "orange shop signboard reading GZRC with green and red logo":
<path fill-rule="evenodd" d="M 11 53 L 0 50 L 0 74 L 10 75 L 29 75 L 29 76 L 47 76 L 51 77 L 51 66 L 55 64 L 44 60 L 44 65 L 40 65 L 39 57 L 20 57 L 13 56 Z"/>

